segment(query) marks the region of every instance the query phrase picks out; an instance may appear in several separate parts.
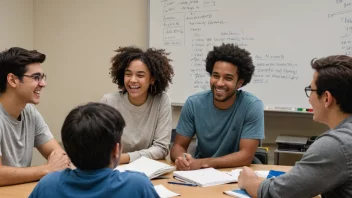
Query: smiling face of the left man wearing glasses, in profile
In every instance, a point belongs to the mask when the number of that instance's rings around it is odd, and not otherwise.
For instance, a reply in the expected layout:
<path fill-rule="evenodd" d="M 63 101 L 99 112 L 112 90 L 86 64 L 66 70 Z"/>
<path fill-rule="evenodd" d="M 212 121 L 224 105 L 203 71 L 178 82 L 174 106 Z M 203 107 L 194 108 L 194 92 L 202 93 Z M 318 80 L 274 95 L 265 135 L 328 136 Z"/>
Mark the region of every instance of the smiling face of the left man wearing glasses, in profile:
<path fill-rule="evenodd" d="M 38 77 L 43 76 L 43 69 L 40 63 L 27 65 L 27 72 L 22 76 L 22 81 L 16 79 L 16 95 L 23 103 L 39 104 L 41 90 L 46 86 L 45 79 L 39 81 Z"/>

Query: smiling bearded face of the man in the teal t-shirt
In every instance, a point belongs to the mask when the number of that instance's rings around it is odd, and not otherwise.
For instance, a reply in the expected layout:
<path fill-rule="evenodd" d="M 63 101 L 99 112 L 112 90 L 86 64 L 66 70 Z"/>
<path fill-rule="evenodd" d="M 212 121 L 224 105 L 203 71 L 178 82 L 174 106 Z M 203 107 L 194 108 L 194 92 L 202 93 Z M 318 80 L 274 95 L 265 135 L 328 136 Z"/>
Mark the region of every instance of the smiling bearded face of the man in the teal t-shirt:
<path fill-rule="evenodd" d="M 229 108 L 236 99 L 236 91 L 243 84 L 238 80 L 237 66 L 217 61 L 210 78 L 210 87 L 214 95 L 214 105 L 219 109 Z"/>

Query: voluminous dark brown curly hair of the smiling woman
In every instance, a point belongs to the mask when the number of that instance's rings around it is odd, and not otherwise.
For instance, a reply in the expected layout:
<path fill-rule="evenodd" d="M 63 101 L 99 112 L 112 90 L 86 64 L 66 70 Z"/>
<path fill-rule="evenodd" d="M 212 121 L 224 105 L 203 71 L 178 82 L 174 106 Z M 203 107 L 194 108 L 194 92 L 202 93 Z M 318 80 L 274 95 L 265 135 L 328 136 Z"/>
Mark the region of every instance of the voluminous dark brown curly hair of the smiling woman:
<path fill-rule="evenodd" d="M 124 75 L 126 68 L 134 60 L 140 60 L 147 65 L 151 77 L 155 79 L 154 87 L 149 87 L 148 92 L 152 95 L 161 94 L 168 88 L 169 83 L 172 83 L 174 70 L 170 65 L 172 61 L 167 56 L 170 53 L 164 49 L 148 48 L 146 51 L 140 48 L 129 46 L 119 47 L 115 50 L 117 54 L 111 58 L 110 75 L 112 82 L 117 84 L 119 89 L 126 93 L 124 86 Z"/>

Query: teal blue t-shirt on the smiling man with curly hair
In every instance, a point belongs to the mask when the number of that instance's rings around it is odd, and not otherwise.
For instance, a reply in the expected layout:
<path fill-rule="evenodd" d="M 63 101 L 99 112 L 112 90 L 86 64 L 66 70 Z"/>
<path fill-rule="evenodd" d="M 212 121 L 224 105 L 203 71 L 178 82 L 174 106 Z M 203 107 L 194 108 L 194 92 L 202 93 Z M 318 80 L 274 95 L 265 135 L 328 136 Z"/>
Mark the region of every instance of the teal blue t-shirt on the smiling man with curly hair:
<path fill-rule="evenodd" d="M 239 90 L 235 103 L 226 110 L 214 106 L 213 93 L 188 97 L 176 132 L 197 136 L 195 158 L 221 157 L 239 151 L 240 140 L 264 139 L 264 107 L 251 93 Z"/>

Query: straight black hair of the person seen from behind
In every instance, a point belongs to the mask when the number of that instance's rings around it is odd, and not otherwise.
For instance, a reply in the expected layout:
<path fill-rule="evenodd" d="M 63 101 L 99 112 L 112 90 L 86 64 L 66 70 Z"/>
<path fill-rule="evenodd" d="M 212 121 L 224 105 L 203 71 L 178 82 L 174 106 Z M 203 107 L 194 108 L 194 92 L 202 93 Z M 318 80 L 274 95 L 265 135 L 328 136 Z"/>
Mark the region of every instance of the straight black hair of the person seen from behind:
<path fill-rule="evenodd" d="M 88 103 L 67 115 L 61 137 L 72 163 L 82 170 L 94 170 L 110 165 L 113 149 L 117 143 L 121 145 L 124 127 L 118 110 L 102 103 Z"/>

